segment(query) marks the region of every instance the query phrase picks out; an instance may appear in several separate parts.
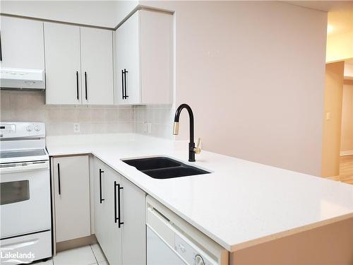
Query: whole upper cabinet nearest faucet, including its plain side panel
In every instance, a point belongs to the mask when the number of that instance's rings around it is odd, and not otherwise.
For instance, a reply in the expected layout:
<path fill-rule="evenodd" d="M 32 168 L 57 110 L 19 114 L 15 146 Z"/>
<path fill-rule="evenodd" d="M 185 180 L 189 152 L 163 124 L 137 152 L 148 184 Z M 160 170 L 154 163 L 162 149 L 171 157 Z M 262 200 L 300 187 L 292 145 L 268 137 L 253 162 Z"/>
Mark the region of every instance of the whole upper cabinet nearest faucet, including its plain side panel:
<path fill-rule="evenodd" d="M 116 102 L 172 103 L 173 17 L 136 11 L 116 30 Z"/>

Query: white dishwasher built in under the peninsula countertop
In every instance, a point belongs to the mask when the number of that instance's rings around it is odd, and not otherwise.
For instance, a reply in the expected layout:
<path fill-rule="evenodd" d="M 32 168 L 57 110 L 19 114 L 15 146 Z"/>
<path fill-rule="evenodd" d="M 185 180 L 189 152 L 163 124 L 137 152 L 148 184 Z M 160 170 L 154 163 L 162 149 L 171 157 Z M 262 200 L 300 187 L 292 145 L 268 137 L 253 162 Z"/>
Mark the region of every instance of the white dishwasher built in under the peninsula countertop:
<path fill-rule="evenodd" d="M 147 265 L 228 264 L 229 252 L 147 196 Z"/>

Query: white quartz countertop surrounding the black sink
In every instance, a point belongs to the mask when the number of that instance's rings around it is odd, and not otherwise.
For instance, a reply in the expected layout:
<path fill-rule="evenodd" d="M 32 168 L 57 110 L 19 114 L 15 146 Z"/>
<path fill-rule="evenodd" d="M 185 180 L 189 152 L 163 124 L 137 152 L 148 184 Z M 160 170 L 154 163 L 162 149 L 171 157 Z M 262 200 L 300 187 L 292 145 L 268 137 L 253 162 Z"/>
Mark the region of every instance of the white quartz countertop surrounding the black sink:
<path fill-rule="evenodd" d="M 188 160 L 186 142 L 138 134 L 48 136 L 49 155 L 92 153 L 233 252 L 353 217 L 353 185 L 202 151 L 211 174 L 153 179 L 121 159 Z"/>

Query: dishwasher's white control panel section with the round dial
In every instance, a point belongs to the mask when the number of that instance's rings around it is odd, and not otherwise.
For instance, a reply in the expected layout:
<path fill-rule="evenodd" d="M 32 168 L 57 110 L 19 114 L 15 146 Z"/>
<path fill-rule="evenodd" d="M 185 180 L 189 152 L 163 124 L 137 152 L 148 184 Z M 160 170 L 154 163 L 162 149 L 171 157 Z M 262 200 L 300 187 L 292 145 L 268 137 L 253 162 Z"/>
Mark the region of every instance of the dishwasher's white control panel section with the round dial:
<path fill-rule="evenodd" d="M 189 241 L 189 240 L 188 240 Z M 208 257 L 205 252 L 198 249 L 191 242 L 186 242 L 177 233 L 174 234 L 174 249 L 187 262 L 194 265 L 214 265 L 217 264 L 213 259 Z"/>

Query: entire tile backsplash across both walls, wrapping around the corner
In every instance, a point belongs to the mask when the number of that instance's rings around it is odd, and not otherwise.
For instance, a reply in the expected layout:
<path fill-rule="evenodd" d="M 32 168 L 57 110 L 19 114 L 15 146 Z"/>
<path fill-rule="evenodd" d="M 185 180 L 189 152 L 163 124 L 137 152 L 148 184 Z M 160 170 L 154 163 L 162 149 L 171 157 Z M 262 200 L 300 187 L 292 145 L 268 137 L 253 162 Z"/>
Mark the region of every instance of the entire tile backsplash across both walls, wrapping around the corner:
<path fill-rule="evenodd" d="M 0 98 L 1 121 L 45 122 L 48 136 L 136 132 L 173 139 L 172 105 L 45 105 L 42 92 L 10 90 L 0 90 Z"/>

